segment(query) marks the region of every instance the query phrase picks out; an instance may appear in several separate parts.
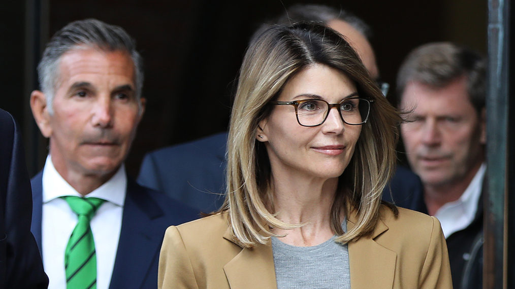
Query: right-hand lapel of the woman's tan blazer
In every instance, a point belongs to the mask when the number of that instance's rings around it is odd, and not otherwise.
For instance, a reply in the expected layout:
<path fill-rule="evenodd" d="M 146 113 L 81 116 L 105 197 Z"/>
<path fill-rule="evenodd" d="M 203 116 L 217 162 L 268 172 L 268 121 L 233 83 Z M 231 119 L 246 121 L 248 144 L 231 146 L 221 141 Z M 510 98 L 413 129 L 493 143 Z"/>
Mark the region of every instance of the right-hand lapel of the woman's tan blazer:
<path fill-rule="evenodd" d="M 353 218 L 347 226 L 354 227 Z M 351 288 L 389 288 L 393 287 L 393 276 L 397 254 L 375 242 L 375 238 L 388 230 L 380 220 L 374 233 L 349 243 L 349 263 L 351 269 Z"/>

